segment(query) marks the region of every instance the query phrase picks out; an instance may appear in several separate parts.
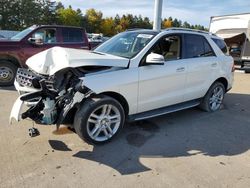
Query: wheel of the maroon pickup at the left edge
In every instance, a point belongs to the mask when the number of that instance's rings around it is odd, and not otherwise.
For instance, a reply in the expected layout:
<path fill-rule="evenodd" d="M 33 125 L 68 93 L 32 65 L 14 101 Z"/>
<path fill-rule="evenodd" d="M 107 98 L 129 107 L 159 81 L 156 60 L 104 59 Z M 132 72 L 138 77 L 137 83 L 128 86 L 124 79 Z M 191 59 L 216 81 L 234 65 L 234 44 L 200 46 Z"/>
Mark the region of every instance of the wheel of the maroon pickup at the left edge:
<path fill-rule="evenodd" d="M 10 61 L 0 61 L 0 86 L 13 85 L 17 68 L 18 67 Z"/>

